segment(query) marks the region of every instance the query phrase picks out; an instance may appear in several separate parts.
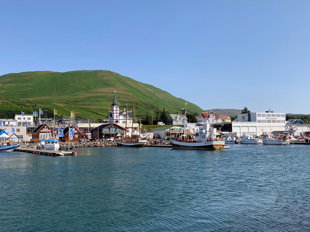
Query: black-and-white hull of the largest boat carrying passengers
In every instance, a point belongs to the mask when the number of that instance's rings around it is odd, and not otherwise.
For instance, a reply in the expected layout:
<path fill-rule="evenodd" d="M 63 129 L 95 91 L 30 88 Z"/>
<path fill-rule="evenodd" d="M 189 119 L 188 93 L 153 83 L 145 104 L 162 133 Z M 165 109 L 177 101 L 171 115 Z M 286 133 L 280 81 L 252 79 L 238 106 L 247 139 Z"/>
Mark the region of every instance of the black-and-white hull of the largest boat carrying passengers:
<path fill-rule="evenodd" d="M 213 140 L 213 141 L 205 141 L 205 142 L 197 142 L 197 143 L 188 143 L 176 140 L 170 140 L 170 144 L 172 148 L 179 149 L 203 149 L 203 150 L 219 150 L 224 148 L 225 141 L 224 140 Z"/>

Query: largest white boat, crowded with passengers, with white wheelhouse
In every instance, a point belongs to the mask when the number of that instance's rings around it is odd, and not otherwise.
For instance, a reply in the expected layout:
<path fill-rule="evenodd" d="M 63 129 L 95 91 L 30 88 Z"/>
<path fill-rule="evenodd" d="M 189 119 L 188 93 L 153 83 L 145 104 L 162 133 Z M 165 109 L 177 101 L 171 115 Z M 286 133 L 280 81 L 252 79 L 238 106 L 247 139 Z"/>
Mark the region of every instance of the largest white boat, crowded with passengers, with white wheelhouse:
<path fill-rule="evenodd" d="M 177 135 L 174 140 L 170 138 L 170 144 L 172 148 L 217 150 L 224 148 L 225 141 L 220 136 L 206 132 L 206 125 L 204 125 L 194 136 L 184 133 Z"/>

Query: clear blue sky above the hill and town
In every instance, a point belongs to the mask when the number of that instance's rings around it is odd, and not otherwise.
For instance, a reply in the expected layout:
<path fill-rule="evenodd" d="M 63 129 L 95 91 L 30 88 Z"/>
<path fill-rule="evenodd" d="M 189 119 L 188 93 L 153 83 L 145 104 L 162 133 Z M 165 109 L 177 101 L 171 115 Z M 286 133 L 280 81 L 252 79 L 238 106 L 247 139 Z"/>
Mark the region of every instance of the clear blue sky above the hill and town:
<path fill-rule="evenodd" d="M 309 9 L 308 0 L 2 1 L 0 75 L 110 69 L 203 110 L 310 114 Z"/>

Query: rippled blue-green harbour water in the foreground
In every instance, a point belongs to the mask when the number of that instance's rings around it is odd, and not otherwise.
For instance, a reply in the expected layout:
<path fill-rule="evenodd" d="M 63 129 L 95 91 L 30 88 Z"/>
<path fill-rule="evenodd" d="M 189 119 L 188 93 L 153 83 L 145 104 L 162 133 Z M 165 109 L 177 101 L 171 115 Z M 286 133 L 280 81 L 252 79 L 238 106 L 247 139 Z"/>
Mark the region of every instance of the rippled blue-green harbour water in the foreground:
<path fill-rule="evenodd" d="M 309 231 L 309 145 L 0 153 L 0 231 Z"/>

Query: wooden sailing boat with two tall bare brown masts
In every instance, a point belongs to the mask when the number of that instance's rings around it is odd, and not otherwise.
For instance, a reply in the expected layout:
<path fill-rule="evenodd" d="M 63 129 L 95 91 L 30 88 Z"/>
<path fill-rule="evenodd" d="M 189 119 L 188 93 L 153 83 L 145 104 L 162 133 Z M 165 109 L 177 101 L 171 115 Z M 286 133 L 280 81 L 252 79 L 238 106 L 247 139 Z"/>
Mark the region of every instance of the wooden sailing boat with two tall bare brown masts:
<path fill-rule="evenodd" d="M 128 107 L 128 104 L 127 104 Z M 145 147 L 148 144 L 148 140 L 140 138 L 140 135 L 134 135 L 133 125 L 134 125 L 134 108 L 135 108 L 135 92 L 132 107 L 132 123 L 131 123 L 131 136 L 127 136 L 127 109 L 126 109 L 126 128 L 124 133 L 124 139 L 117 141 L 117 146 L 119 147 Z"/>

